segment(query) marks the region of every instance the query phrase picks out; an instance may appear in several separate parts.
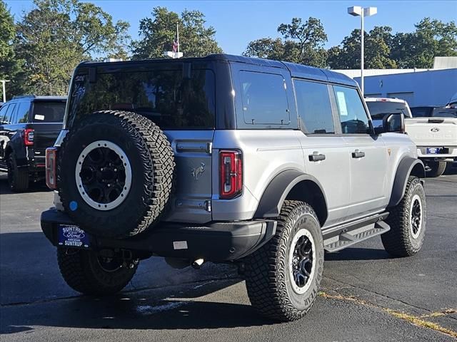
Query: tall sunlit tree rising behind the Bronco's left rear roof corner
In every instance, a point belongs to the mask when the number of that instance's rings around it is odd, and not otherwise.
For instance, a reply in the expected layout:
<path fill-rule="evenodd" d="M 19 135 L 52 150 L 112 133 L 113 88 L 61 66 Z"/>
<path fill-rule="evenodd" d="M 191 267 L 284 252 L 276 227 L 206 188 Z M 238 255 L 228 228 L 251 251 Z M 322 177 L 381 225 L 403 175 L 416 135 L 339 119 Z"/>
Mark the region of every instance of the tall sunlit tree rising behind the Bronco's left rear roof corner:
<path fill-rule="evenodd" d="M 126 56 L 129 24 L 79 0 L 34 0 L 17 24 L 16 51 L 26 63 L 24 92 L 65 95 L 75 66 L 84 60 Z"/>

